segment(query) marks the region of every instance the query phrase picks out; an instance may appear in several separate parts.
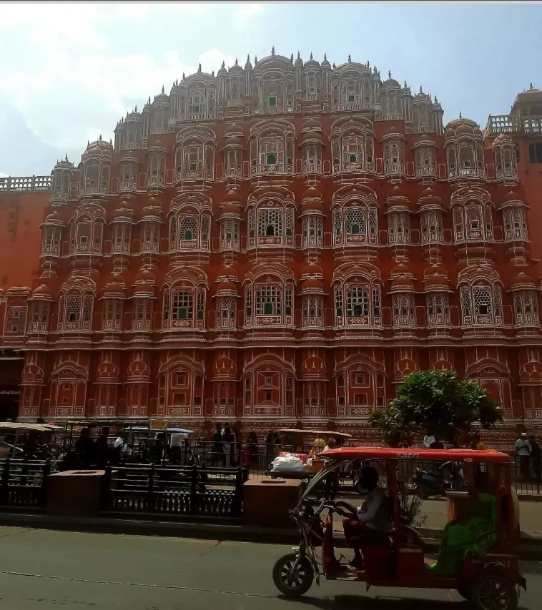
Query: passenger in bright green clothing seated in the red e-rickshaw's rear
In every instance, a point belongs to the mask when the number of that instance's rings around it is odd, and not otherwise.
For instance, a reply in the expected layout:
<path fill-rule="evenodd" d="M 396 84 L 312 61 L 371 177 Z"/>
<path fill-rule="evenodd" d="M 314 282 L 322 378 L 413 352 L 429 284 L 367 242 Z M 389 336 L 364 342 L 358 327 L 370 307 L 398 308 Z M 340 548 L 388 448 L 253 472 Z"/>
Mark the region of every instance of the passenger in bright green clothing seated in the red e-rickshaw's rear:
<path fill-rule="evenodd" d="M 444 528 L 437 563 L 431 568 L 445 575 L 455 575 L 468 556 L 481 556 L 497 541 L 497 504 L 493 480 L 488 472 L 478 472 L 476 487 L 469 492 L 472 503 L 463 522 L 451 521 Z"/>

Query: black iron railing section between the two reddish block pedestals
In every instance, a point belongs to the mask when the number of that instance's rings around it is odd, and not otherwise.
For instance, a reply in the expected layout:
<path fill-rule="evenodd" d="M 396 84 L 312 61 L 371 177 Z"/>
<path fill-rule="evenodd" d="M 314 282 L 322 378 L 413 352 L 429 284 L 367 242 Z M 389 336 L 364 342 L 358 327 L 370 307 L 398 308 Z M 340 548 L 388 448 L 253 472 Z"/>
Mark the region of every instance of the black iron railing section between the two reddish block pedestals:
<path fill-rule="evenodd" d="M 237 519 L 248 470 L 193 465 L 126 465 L 105 468 L 103 512 Z"/>

